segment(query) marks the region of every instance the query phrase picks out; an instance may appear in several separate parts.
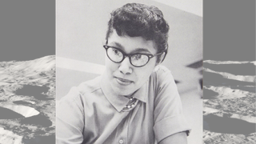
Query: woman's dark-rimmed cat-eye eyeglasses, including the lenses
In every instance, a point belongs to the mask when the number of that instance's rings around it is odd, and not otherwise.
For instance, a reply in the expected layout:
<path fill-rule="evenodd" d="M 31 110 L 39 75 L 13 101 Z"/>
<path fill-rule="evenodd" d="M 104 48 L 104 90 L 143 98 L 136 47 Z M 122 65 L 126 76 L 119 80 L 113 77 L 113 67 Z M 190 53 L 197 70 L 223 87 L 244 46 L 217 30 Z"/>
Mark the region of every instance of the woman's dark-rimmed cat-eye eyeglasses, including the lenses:
<path fill-rule="evenodd" d="M 118 48 L 115 48 L 113 46 L 103 46 L 106 49 L 106 55 L 112 62 L 120 63 L 122 62 L 126 57 L 130 59 L 130 64 L 135 67 L 142 67 L 145 66 L 149 61 L 150 58 L 153 58 L 154 56 L 160 55 L 159 54 L 126 54 L 122 50 L 119 50 Z"/>

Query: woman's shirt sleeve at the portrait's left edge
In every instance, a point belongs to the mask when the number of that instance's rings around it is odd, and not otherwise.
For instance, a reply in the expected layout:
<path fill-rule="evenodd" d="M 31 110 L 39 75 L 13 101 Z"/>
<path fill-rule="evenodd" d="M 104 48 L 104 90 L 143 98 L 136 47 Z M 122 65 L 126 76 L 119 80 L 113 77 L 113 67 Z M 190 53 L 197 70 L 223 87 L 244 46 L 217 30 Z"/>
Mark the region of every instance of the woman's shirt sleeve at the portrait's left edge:
<path fill-rule="evenodd" d="M 56 143 L 78 144 L 83 141 L 84 112 L 79 92 L 73 87 L 56 103 Z"/>

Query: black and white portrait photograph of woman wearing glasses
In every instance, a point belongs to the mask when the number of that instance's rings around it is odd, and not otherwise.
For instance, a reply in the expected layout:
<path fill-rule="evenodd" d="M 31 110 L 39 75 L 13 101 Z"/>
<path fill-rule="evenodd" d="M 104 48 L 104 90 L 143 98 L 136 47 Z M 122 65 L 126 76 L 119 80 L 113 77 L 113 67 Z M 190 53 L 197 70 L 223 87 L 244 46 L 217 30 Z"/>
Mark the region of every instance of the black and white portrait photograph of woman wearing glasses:
<path fill-rule="evenodd" d="M 202 142 L 202 2 L 184 3 L 57 1 L 56 143 Z"/>

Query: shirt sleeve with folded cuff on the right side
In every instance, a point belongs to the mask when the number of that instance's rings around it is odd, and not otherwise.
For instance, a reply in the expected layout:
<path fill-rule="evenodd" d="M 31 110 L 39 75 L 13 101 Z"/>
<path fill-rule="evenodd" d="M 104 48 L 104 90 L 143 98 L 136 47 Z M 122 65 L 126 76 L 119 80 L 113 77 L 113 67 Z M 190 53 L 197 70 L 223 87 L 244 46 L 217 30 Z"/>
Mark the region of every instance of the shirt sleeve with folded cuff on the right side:
<path fill-rule="evenodd" d="M 182 102 L 170 70 L 161 66 L 155 73 L 154 134 L 157 142 L 179 132 L 189 134 L 190 126 L 182 114 Z"/>

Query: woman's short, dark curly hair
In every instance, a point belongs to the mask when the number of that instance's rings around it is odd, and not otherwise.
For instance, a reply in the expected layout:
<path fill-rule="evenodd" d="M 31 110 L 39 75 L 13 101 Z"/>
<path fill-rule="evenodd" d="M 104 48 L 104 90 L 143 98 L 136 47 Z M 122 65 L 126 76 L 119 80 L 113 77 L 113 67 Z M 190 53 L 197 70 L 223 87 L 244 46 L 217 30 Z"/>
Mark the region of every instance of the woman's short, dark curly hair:
<path fill-rule="evenodd" d="M 158 53 L 167 53 L 169 25 L 163 18 L 162 11 L 156 6 L 127 3 L 114 10 L 108 22 L 106 42 L 113 30 L 116 30 L 119 36 L 128 35 L 152 40 Z"/>

